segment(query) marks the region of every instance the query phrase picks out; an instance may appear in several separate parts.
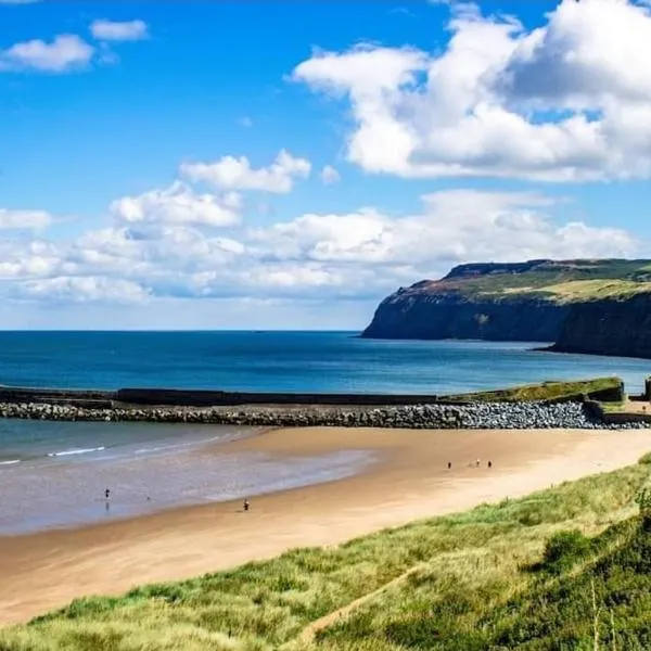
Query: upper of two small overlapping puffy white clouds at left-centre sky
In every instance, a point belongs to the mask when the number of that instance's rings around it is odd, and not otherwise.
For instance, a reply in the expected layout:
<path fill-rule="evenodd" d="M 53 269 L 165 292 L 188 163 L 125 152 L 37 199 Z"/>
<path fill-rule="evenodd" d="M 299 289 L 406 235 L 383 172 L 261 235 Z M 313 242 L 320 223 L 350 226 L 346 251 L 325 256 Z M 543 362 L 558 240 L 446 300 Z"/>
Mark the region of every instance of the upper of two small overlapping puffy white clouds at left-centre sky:
<path fill-rule="evenodd" d="M 221 190 L 291 192 L 296 179 L 309 176 L 311 165 L 281 150 L 268 167 L 254 169 L 246 156 L 224 156 L 217 163 L 183 163 L 180 174 L 191 181 L 205 181 Z"/>

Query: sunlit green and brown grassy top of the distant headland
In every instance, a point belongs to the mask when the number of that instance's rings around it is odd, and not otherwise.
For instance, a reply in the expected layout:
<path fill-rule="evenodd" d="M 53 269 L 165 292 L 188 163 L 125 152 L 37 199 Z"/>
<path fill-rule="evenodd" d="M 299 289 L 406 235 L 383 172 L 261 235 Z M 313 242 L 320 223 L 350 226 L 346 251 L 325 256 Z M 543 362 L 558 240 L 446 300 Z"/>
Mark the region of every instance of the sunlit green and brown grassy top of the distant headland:
<path fill-rule="evenodd" d="M 455 276 L 430 284 L 432 290 L 456 290 L 465 296 L 538 297 L 559 304 L 626 298 L 651 292 L 650 260 L 563 260 L 523 264 L 522 270 L 485 265 L 481 273 Z M 439 285 L 439 286 L 438 286 Z"/>

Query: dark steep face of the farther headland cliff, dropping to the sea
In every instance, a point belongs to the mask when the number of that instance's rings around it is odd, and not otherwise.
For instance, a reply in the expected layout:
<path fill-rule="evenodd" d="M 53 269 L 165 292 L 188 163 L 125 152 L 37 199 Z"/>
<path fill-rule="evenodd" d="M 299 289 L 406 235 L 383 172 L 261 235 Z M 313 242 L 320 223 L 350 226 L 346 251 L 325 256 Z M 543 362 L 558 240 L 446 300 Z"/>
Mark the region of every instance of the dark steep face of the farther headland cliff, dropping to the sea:
<path fill-rule="evenodd" d="M 362 336 L 554 342 L 567 312 L 569 306 L 536 298 L 489 301 L 398 291 L 380 304 Z"/>

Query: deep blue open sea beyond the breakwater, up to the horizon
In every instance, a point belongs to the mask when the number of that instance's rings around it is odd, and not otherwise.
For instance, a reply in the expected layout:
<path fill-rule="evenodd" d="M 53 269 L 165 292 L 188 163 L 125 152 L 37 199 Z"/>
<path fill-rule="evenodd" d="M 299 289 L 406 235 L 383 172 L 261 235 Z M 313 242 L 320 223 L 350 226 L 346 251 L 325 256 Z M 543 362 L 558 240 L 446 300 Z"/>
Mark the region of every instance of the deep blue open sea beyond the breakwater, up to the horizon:
<path fill-rule="evenodd" d="M 73 388 L 435 393 L 617 374 L 651 361 L 537 344 L 362 340 L 354 332 L 0 332 L 0 384 Z M 544 344 L 539 344 L 544 345 Z"/>

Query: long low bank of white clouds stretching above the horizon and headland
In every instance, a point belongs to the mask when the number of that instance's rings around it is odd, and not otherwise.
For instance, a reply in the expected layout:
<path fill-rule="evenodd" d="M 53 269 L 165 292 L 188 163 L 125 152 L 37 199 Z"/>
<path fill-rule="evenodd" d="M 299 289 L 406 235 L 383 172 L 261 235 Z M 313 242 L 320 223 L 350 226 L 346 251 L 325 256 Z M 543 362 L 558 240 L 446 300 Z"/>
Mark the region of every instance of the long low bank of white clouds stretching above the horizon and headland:
<path fill-rule="evenodd" d="M 360 301 L 461 261 L 638 251 L 625 230 L 559 224 L 557 200 L 538 193 L 441 191 L 422 196 L 412 215 L 366 207 L 237 229 L 215 197 L 201 196 L 177 182 L 114 202 L 113 224 L 65 244 L 0 241 L 0 278 L 12 297 L 39 301 L 114 302 L 120 290 L 128 301 L 305 299 L 315 291 Z"/>

